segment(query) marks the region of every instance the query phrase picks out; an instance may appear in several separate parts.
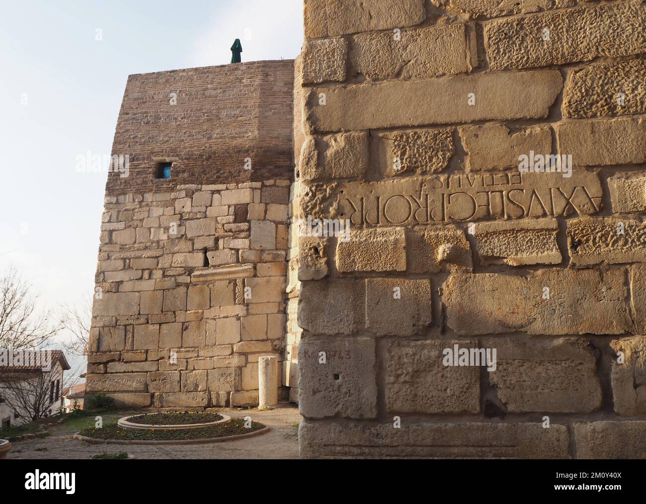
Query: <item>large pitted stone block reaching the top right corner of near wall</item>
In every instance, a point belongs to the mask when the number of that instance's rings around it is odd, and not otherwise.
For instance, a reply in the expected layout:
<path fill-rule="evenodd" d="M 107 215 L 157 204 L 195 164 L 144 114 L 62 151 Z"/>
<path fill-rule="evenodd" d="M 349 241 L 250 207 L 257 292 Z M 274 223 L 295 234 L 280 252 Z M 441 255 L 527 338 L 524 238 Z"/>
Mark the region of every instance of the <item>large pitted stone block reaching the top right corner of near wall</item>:
<path fill-rule="evenodd" d="M 572 8 L 487 23 L 485 47 L 492 70 L 616 58 L 646 50 L 645 24 L 638 0 Z"/>

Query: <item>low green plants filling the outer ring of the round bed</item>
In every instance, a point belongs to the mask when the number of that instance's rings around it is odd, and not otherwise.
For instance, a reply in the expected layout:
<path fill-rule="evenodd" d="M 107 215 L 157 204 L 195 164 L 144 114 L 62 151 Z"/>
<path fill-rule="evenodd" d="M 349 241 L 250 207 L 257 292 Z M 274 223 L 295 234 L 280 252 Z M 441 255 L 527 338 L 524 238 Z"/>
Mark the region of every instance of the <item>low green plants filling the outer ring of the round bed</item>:
<path fill-rule="evenodd" d="M 81 436 L 94 437 L 96 439 L 122 439 L 124 441 L 180 441 L 187 439 L 214 439 L 216 437 L 237 436 L 238 434 L 249 434 L 265 428 L 262 423 L 251 422 L 250 428 L 245 428 L 245 421 L 242 419 L 231 419 L 227 423 L 218 423 L 209 427 L 198 429 L 147 429 L 130 430 L 124 429 L 115 423 L 103 428 L 87 428 L 81 430 Z"/>

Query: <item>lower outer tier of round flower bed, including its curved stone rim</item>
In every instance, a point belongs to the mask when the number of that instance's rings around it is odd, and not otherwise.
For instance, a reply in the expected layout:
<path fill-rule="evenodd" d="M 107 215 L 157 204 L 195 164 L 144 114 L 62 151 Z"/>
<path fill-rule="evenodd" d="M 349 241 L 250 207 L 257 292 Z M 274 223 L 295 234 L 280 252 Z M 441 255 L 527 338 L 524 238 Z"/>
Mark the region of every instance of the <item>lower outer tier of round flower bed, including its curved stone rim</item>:
<path fill-rule="evenodd" d="M 262 423 L 251 422 L 249 428 L 245 428 L 245 423 L 242 419 L 231 419 L 226 423 L 216 423 L 200 428 L 132 430 L 123 428 L 115 422 L 112 425 L 103 426 L 103 428 L 92 426 L 83 429 L 74 437 L 90 443 L 189 444 L 227 441 L 238 437 L 257 436 L 269 431 L 269 428 Z"/>

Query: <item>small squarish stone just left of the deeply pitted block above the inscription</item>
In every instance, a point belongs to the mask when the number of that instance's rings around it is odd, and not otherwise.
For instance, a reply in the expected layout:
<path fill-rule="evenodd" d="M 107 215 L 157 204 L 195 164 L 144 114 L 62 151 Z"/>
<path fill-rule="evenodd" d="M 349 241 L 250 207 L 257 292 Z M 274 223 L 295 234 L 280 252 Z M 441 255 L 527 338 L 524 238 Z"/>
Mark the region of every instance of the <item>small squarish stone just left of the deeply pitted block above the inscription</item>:
<path fill-rule="evenodd" d="M 330 178 L 360 177 L 368 168 L 368 133 L 344 133 L 328 137 L 324 152 L 325 174 Z"/>

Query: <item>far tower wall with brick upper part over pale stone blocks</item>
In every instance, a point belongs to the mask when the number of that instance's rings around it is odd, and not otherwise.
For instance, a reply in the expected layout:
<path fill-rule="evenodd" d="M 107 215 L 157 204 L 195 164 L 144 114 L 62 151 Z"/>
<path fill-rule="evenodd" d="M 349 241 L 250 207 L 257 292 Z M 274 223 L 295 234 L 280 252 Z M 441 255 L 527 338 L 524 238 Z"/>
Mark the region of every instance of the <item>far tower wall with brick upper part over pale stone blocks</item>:
<path fill-rule="evenodd" d="M 257 404 L 258 357 L 282 366 L 293 67 L 128 79 L 113 154 L 129 156 L 129 174 L 106 187 L 89 393 L 118 406 Z"/>

